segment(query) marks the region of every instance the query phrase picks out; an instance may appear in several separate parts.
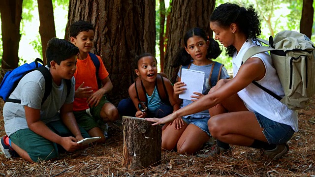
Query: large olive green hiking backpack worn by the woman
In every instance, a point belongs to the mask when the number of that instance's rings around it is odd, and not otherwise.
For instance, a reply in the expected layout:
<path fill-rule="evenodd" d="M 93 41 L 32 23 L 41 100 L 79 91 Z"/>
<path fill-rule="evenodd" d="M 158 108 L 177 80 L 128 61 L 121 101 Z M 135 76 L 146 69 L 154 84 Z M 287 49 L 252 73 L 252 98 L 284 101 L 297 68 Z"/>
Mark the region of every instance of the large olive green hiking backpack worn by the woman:
<path fill-rule="evenodd" d="M 253 55 L 270 51 L 273 65 L 276 68 L 284 97 L 280 97 L 253 81 L 291 110 L 304 109 L 315 94 L 315 47 L 305 34 L 296 31 L 281 31 L 269 41 L 257 39 L 268 46 L 251 47 L 244 55 L 244 63 Z"/>

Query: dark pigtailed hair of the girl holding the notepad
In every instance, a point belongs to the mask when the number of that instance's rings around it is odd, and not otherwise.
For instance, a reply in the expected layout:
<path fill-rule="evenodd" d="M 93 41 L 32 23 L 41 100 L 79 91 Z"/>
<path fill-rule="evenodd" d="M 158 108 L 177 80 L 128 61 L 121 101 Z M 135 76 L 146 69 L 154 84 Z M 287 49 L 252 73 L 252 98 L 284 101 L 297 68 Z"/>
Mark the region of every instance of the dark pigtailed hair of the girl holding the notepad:
<path fill-rule="evenodd" d="M 184 44 L 187 48 L 187 41 L 192 36 L 202 37 L 205 41 L 209 40 L 208 53 L 206 58 L 208 59 L 216 59 L 220 56 L 222 50 L 219 46 L 219 43 L 215 41 L 213 38 L 209 38 L 206 35 L 206 32 L 201 28 L 193 28 L 189 29 L 184 36 Z M 208 39 L 209 38 L 209 39 Z M 192 60 L 191 56 L 187 53 L 184 47 L 182 47 L 176 54 L 175 59 L 173 60 L 172 67 L 178 67 L 180 65 L 188 65 Z"/>

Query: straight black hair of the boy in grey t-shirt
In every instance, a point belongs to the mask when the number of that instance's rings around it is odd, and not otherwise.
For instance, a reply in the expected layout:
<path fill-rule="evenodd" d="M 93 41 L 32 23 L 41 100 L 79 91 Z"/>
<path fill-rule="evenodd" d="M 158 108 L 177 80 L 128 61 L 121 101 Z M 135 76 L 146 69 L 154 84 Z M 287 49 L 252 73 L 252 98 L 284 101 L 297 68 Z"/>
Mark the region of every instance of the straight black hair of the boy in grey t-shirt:
<path fill-rule="evenodd" d="M 56 37 L 51 38 L 47 43 L 46 49 L 47 65 L 50 67 L 50 61 L 53 60 L 60 65 L 63 60 L 70 59 L 78 55 L 79 52 L 79 48 L 71 42 Z"/>

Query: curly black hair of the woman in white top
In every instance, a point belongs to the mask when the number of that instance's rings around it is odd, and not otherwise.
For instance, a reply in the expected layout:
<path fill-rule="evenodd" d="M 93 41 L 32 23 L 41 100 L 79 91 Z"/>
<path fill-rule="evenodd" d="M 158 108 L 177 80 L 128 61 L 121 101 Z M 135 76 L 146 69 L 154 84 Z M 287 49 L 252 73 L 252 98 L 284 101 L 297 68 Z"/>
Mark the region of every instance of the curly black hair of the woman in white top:
<path fill-rule="evenodd" d="M 253 5 L 246 8 L 234 3 L 221 4 L 212 12 L 210 22 L 215 22 L 222 28 L 229 28 L 235 23 L 247 38 L 256 39 L 261 33 L 259 17 Z M 226 47 L 226 55 L 229 57 L 232 57 L 234 52 L 234 46 Z"/>

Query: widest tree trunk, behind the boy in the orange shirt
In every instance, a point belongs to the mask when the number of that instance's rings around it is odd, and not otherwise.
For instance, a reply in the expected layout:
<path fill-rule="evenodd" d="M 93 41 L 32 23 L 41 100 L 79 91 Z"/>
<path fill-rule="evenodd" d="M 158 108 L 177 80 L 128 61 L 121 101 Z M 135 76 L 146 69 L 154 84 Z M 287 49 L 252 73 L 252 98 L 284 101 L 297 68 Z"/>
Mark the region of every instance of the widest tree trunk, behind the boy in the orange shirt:
<path fill-rule="evenodd" d="M 113 83 L 109 100 L 117 105 L 128 97 L 128 88 L 135 78 L 135 56 L 144 52 L 144 0 L 70 0 L 68 27 L 86 20 L 95 27 L 95 54 L 105 64 Z"/>

